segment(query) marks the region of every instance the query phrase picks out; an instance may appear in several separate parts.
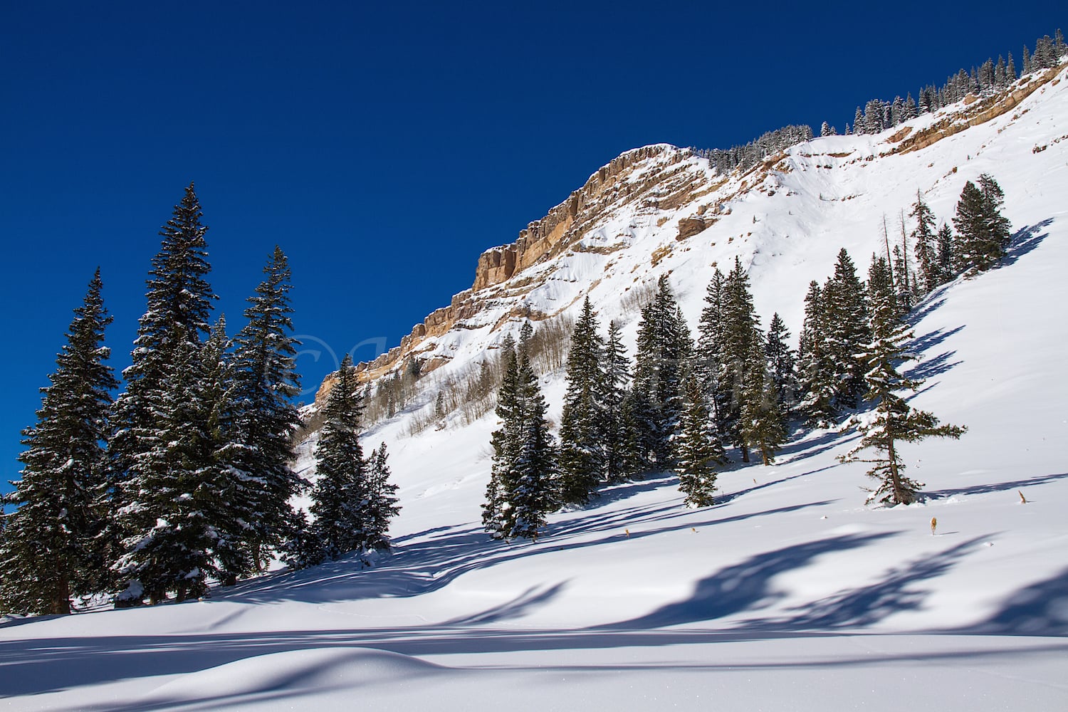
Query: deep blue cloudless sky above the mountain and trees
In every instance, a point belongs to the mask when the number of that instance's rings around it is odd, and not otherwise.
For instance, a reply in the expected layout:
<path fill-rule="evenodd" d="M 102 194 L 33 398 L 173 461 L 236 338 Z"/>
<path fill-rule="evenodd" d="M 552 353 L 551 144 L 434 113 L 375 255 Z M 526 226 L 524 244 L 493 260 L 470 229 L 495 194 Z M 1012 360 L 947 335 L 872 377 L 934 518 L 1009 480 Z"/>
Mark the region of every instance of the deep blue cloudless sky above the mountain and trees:
<path fill-rule="evenodd" d="M 999 52 L 1019 66 L 1061 21 L 1050 3 L 511 4 L 4 3 L 0 479 L 97 265 L 128 363 L 190 180 L 233 331 L 273 246 L 289 256 L 314 391 L 331 351 L 395 345 L 628 148 L 843 128 Z"/>

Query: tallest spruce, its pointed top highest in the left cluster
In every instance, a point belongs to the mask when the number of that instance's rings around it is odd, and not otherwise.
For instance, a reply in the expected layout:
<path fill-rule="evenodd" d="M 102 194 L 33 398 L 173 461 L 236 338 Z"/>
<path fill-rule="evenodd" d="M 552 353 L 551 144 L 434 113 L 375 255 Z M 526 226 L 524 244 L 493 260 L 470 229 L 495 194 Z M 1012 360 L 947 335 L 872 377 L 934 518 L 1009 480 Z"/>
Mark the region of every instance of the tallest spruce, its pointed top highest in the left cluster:
<path fill-rule="evenodd" d="M 167 496 L 190 494 L 182 482 L 171 482 L 176 489 L 168 486 L 167 494 L 155 487 L 156 478 L 170 477 L 166 474 L 169 458 L 178 456 L 169 452 L 170 444 L 179 443 L 198 425 L 175 420 L 183 408 L 175 402 L 175 395 L 201 391 L 198 383 L 202 375 L 201 336 L 208 331 L 207 320 L 215 299 L 207 282 L 211 269 L 204 239 L 207 227 L 201 219 L 200 202 L 193 185 L 189 184 L 160 231 L 162 243 L 153 257 L 147 281 L 147 308 L 140 318 L 132 363 L 123 371 L 126 389 L 115 400 L 109 452 L 113 473 L 111 505 L 116 516 L 109 523 L 104 540 L 113 549 L 112 557 L 117 560 L 112 568 L 119 585 L 126 586 L 129 600 L 142 590 L 153 602 L 162 600 L 168 590 L 188 592 L 188 587 L 173 577 L 191 573 L 184 568 L 188 561 L 159 560 L 158 556 L 167 555 L 160 551 L 152 559 L 152 567 L 142 564 L 148 561 L 147 552 L 159 538 L 158 523 L 167 522 L 166 518 L 178 506 Z M 177 431 L 170 432 L 169 428 Z M 204 464 L 186 461 L 182 466 L 195 472 Z M 139 580 L 140 572 L 157 579 Z"/>

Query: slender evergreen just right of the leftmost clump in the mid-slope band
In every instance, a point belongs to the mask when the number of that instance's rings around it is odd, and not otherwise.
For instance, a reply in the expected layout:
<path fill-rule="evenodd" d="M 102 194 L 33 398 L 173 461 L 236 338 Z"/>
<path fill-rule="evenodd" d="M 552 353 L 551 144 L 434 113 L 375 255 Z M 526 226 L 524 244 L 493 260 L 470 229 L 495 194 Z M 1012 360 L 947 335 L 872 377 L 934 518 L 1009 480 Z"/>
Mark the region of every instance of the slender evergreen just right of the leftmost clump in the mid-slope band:
<path fill-rule="evenodd" d="M 604 344 L 587 297 L 571 334 L 567 390 L 560 424 L 560 487 L 564 504 L 585 504 L 604 471 Z"/>

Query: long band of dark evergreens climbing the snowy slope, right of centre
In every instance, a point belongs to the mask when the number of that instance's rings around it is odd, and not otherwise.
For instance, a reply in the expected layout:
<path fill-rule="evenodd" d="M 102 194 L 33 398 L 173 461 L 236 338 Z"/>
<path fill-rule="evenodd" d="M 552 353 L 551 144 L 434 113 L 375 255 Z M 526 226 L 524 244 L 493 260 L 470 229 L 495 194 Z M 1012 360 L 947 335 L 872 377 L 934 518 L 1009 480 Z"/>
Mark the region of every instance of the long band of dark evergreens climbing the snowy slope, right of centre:
<path fill-rule="evenodd" d="M 581 506 L 600 488 L 674 472 L 691 507 L 716 503 L 717 472 L 734 447 L 774 461 L 791 421 L 811 427 L 853 427 L 860 444 L 843 461 L 871 463 L 868 502 L 910 504 L 923 485 L 904 474 L 902 442 L 959 438 L 964 428 L 941 425 L 900 395 L 922 381 L 904 376 L 913 359 L 905 319 L 925 295 L 961 274 L 995 267 L 1009 243 L 1001 215 L 1004 195 L 989 175 L 964 185 L 953 223 L 936 230 L 933 212 L 917 191 L 914 225 L 873 255 L 867 281 L 849 254 L 834 273 L 814 281 L 804 298 L 799 349 L 778 314 L 767 331 L 753 306 L 741 262 L 714 270 L 694 338 L 666 276 L 642 308 L 631 364 L 618 326 L 607 339 L 588 298 L 575 323 L 566 366 L 559 443 L 527 344 L 524 322 L 516 342 L 502 345 L 505 375 L 498 393 L 500 428 L 493 432 L 492 471 L 483 524 L 494 537 L 536 539 L 547 516 Z M 867 408 L 865 413 L 858 409 Z M 845 423 L 841 423 L 848 415 Z M 862 454 L 874 450 L 870 456 Z"/>

